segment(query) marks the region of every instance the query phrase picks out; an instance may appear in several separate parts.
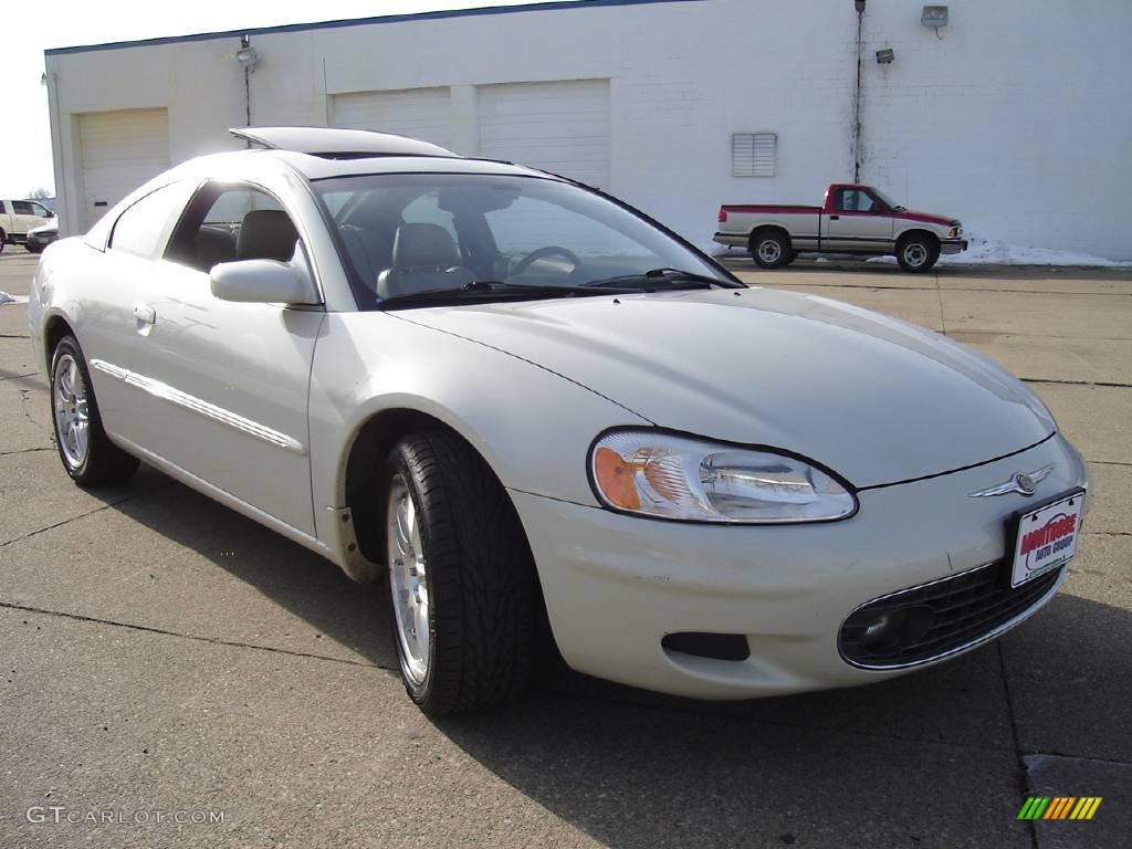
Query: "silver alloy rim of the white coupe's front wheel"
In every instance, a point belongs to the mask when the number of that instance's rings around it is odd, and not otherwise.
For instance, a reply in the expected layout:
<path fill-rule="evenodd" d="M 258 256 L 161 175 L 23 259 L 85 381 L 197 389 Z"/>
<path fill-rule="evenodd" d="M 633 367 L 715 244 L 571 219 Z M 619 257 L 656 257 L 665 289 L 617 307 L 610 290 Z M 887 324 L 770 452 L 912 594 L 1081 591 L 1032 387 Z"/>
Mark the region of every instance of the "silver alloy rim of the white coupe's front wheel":
<path fill-rule="evenodd" d="M 402 667 L 408 678 L 421 685 L 428 677 L 431 644 L 428 573 L 417 505 L 401 474 L 389 484 L 385 538 Z"/>

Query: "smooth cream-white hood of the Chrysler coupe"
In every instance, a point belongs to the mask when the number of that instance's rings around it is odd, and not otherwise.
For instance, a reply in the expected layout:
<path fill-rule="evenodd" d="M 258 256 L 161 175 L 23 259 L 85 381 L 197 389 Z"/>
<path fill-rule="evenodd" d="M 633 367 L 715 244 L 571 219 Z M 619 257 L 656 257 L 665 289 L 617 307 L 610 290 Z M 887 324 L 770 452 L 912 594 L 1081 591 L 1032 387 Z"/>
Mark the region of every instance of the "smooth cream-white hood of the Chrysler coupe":
<path fill-rule="evenodd" d="M 989 360 L 814 295 L 696 290 L 394 315 L 529 360 L 658 426 L 784 448 L 857 487 L 983 463 L 1055 429 Z"/>

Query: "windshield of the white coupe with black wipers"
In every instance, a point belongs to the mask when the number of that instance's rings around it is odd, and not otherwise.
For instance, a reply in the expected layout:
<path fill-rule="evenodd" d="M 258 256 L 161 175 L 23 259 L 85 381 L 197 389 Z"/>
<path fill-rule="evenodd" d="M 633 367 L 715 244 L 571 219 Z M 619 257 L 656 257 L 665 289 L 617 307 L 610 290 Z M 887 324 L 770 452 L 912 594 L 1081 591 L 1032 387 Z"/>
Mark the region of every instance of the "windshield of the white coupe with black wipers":
<path fill-rule="evenodd" d="M 559 180 L 367 174 L 314 186 L 367 308 L 434 293 L 483 300 L 734 285 L 637 215 Z"/>

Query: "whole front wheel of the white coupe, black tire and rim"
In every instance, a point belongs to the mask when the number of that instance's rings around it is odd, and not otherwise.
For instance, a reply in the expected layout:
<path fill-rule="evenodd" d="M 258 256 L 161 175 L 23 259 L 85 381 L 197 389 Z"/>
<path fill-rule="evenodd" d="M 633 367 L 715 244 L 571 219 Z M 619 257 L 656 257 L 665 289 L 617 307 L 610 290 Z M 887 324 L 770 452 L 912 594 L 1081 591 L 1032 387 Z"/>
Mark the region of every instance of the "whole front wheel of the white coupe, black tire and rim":
<path fill-rule="evenodd" d="M 444 431 L 402 439 L 387 468 L 391 624 L 405 691 L 430 715 L 512 700 L 531 669 L 537 586 L 514 506 L 483 460 Z"/>

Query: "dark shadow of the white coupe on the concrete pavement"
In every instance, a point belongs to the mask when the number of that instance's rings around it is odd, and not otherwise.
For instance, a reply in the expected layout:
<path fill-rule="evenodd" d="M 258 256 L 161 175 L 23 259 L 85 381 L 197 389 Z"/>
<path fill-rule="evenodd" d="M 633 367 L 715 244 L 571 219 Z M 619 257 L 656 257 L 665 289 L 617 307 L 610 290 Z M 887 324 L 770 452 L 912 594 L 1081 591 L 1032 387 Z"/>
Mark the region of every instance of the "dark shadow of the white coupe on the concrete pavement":
<path fill-rule="evenodd" d="M 395 668 L 379 586 L 353 584 L 317 555 L 178 483 L 113 509 L 327 638 Z M 217 554 L 233 546 L 249 556 Z M 1115 748 L 1113 740 L 1132 697 L 1130 641 L 1132 615 L 1063 590 L 1001 643 L 867 687 L 705 703 L 561 669 L 514 705 L 435 726 L 611 847 L 1021 848 L 1031 842 L 1015 818 L 1029 789 L 1019 744 L 1066 755 L 1099 747 L 1132 760 L 1126 731 Z M 1067 717 L 1072 730 L 1058 736 Z M 524 844 L 541 842 L 522 818 L 498 827 Z"/>

